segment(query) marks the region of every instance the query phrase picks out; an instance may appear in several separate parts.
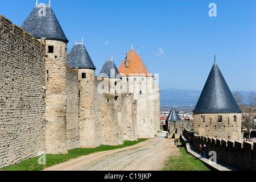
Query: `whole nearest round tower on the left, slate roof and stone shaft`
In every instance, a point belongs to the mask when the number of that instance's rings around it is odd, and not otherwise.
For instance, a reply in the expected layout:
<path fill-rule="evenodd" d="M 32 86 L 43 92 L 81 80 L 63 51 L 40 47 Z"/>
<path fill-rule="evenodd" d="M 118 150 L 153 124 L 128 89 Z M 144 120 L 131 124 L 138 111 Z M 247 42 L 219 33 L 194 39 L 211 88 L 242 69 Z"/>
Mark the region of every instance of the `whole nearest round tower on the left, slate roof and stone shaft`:
<path fill-rule="evenodd" d="M 46 45 L 46 153 L 66 154 L 68 39 L 50 2 L 36 3 L 21 27 Z"/>

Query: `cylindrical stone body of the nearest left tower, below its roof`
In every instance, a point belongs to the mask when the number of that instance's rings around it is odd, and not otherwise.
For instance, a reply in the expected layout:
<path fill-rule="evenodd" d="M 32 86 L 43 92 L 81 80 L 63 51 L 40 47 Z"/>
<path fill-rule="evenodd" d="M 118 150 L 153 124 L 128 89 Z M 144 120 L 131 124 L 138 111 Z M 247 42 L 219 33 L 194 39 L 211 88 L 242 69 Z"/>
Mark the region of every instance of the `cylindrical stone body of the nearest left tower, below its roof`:
<path fill-rule="evenodd" d="M 53 46 L 53 52 L 49 51 Z M 46 40 L 46 153 L 67 154 L 67 43 Z"/>

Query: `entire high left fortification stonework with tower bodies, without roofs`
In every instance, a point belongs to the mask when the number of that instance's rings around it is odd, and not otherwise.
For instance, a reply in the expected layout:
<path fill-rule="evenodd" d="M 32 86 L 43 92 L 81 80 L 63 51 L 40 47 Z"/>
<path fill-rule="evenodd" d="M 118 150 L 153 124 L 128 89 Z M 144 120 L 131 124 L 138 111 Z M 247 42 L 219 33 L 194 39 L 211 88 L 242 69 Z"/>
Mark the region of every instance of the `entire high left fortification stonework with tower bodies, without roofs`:
<path fill-rule="evenodd" d="M 2 15 L 0 48 L 0 168 L 44 153 L 154 138 L 160 130 L 154 78 L 144 77 L 152 90 L 123 91 L 126 78 L 69 67 L 66 42 L 32 38 Z"/>

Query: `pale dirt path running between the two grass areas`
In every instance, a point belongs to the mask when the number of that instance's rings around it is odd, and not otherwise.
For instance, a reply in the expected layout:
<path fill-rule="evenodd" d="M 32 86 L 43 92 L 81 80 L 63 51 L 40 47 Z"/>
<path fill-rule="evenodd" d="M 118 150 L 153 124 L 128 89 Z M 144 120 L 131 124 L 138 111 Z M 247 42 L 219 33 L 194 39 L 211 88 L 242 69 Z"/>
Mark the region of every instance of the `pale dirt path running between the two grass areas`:
<path fill-rule="evenodd" d="M 179 152 L 174 139 L 160 133 L 134 146 L 81 156 L 44 171 L 160 171 L 168 156 Z"/>

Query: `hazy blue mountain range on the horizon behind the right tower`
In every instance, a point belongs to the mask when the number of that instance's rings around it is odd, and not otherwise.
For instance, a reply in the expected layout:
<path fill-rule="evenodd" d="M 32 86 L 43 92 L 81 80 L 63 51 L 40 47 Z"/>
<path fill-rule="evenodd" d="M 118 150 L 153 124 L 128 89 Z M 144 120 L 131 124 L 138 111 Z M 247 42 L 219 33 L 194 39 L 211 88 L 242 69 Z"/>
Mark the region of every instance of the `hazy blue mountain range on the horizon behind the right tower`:
<path fill-rule="evenodd" d="M 241 92 L 245 104 L 248 103 L 247 96 L 250 92 Z M 163 106 L 196 106 L 201 95 L 198 90 L 182 90 L 182 89 L 161 89 L 160 105 Z"/>

